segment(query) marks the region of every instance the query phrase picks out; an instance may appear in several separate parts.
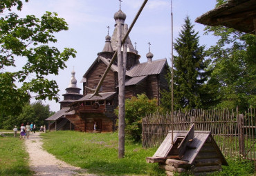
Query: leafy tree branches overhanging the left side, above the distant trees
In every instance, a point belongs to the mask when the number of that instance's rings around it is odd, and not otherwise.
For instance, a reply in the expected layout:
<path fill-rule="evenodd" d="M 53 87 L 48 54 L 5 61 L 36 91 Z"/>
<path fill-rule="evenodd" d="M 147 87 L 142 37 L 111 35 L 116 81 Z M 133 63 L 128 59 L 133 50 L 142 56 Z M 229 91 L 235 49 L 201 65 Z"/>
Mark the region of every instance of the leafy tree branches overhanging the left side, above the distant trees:
<path fill-rule="evenodd" d="M 26 0 L 28 2 L 28 0 Z M 12 6 L 21 10 L 20 0 L 0 2 L 0 113 L 1 116 L 18 115 L 22 106 L 27 104 L 35 94 L 35 99 L 58 100 L 59 91 L 56 81 L 45 78 L 57 75 L 60 69 L 66 68 L 65 61 L 75 57 L 73 48 L 62 52 L 48 43 L 55 43 L 55 32 L 68 30 L 64 19 L 55 12 L 46 12 L 41 19 L 34 15 L 19 18 L 11 12 Z M 24 66 L 19 70 L 17 61 Z M 10 68 L 15 68 L 15 71 Z"/>

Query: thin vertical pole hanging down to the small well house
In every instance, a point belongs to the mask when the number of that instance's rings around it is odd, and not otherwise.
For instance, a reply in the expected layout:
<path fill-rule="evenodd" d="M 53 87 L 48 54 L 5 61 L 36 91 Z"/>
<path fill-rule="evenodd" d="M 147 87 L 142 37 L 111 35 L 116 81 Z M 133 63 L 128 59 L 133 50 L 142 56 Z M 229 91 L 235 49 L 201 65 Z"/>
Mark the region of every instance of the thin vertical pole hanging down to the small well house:
<path fill-rule="evenodd" d="M 171 0 L 171 10 L 172 10 L 172 0 Z M 172 145 L 174 144 L 174 23 L 173 14 L 172 15 Z"/>

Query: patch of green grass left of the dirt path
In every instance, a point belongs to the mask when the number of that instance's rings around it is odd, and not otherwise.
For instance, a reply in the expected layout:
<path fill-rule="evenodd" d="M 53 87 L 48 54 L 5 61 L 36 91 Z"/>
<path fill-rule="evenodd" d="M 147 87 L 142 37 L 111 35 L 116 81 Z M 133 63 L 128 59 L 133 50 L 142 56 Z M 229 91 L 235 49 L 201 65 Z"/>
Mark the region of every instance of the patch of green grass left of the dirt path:
<path fill-rule="evenodd" d="M 24 149 L 24 140 L 6 133 L 0 137 L 0 175 L 33 175 L 28 166 L 28 153 Z"/>

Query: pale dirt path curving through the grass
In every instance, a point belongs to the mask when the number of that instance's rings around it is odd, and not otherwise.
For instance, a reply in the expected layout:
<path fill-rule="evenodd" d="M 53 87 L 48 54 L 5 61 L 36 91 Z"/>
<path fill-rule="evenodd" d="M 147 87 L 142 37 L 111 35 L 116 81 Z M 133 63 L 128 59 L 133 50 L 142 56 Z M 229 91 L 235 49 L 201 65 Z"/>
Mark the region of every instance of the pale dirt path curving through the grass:
<path fill-rule="evenodd" d="M 35 171 L 35 175 L 42 176 L 69 176 L 69 175 L 86 175 L 95 176 L 85 173 L 86 170 L 66 164 L 56 159 L 54 155 L 47 153 L 42 148 L 42 139 L 39 133 L 33 133 L 29 139 L 25 139 L 26 150 L 30 156 L 30 168 Z"/>

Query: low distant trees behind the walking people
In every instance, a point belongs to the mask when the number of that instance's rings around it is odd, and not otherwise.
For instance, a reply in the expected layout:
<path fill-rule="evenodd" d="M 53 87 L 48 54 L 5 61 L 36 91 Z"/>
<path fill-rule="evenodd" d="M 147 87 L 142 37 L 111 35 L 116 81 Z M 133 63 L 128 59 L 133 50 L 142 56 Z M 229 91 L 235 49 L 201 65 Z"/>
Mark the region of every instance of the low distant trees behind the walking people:
<path fill-rule="evenodd" d="M 0 128 L 12 129 L 15 125 L 20 127 L 27 122 L 33 122 L 37 127 L 44 126 L 47 125 L 45 119 L 52 114 L 48 105 L 42 104 L 42 101 L 36 101 L 33 104 L 26 104 L 18 116 L 9 115 L 0 119 Z"/>

